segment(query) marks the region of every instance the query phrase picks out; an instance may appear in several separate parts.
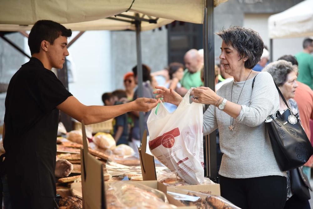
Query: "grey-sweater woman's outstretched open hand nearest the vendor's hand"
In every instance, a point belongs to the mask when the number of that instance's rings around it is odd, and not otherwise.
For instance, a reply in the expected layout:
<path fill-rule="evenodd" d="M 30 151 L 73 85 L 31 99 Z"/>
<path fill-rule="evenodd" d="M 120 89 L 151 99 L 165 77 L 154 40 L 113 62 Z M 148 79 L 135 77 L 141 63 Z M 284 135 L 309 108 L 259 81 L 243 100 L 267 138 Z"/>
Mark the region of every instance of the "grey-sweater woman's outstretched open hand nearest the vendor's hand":
<path fill-rule="evenodd" d="M 156 86 L 156 90 L 153 91 L 156 98 L 163 98 L 162 102 L 168 102 L 176 106 L 182 101 L 182 97 L 172 89 L 165 88 L 163 86 Z"/>

